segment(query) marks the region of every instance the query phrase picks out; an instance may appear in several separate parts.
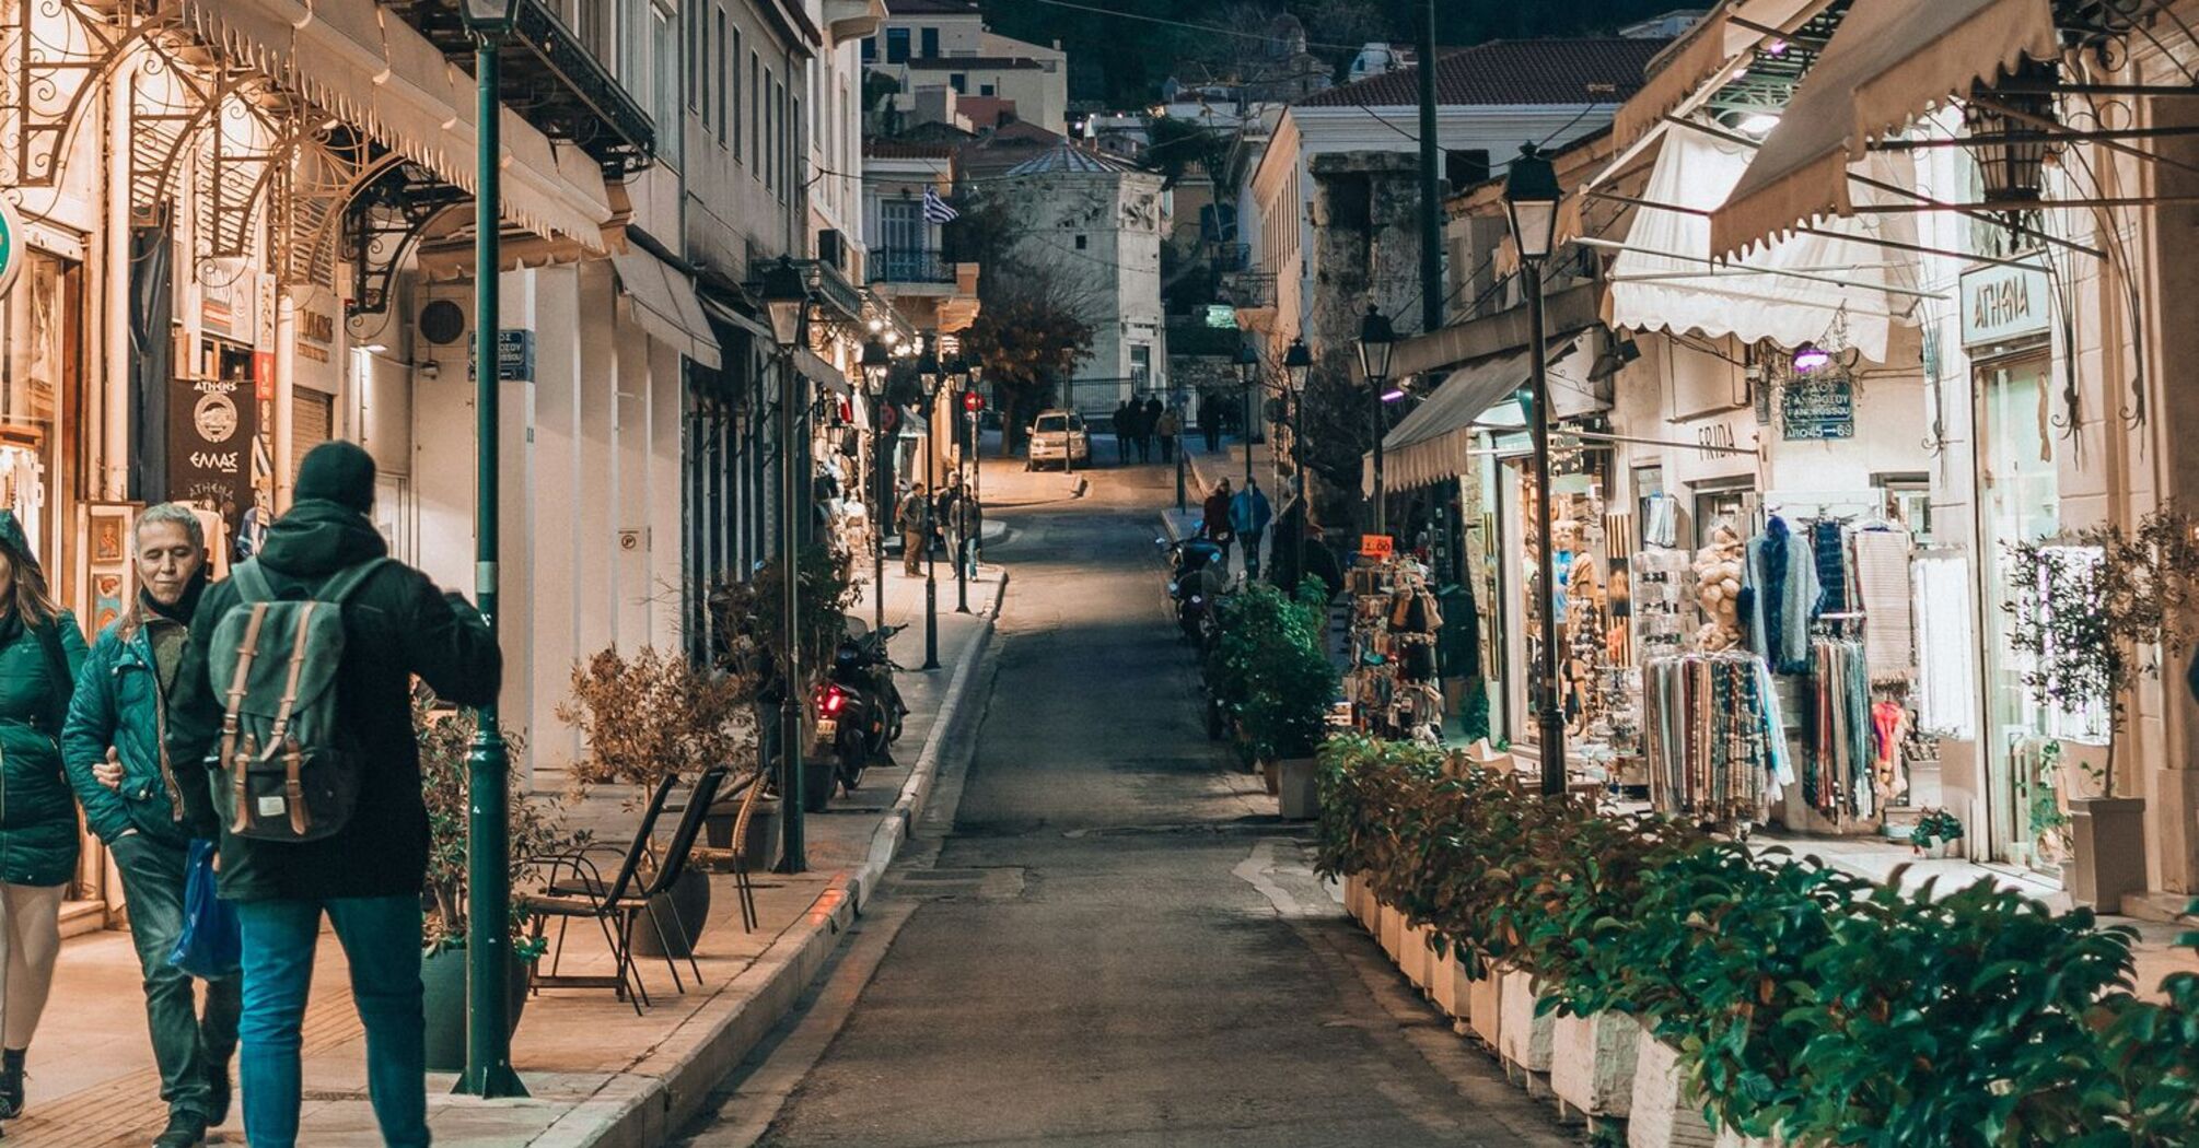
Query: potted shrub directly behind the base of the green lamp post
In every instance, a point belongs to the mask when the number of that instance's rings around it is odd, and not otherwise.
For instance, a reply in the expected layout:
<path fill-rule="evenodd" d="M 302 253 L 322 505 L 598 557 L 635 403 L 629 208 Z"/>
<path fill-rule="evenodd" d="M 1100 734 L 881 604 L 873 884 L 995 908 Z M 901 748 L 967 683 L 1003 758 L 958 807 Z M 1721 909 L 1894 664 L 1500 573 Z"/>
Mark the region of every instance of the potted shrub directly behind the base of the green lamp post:
<path fill-rule="evenodd" d="M 466 1067 L 466 754 L 473 748 L 473 710 L 438 710 L 431 697 L 413 699 L 413 735 L 420 739 L 420 798 L 427 803 L 427 913 L 422 915 L 420 983 L 427 1012 L 429 1071 Z M 541 801 L 519 783 L 521 739 L 504 735 L 510 770 L 510 858 L 519 886 L 545 858 L 585 845 L 585 834 L 567 834 L 563 809 Z M 526 917 L 512 910 L 510 1020 L 528 1001 L 528 979 L 543 943 L 526 935 Z"/>

